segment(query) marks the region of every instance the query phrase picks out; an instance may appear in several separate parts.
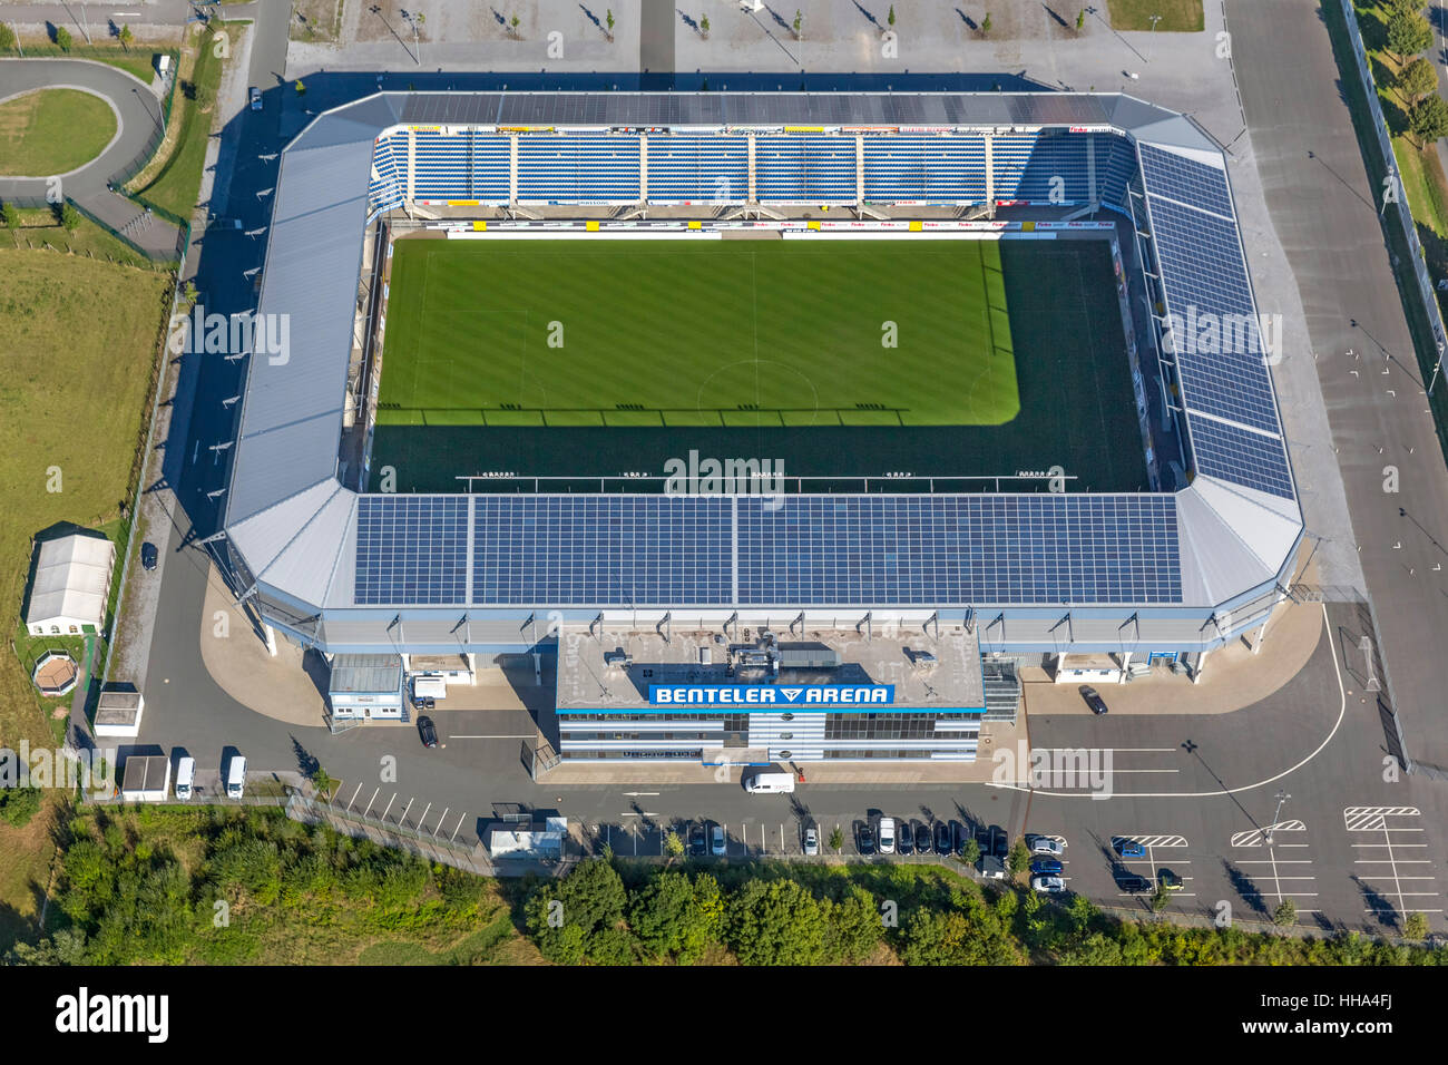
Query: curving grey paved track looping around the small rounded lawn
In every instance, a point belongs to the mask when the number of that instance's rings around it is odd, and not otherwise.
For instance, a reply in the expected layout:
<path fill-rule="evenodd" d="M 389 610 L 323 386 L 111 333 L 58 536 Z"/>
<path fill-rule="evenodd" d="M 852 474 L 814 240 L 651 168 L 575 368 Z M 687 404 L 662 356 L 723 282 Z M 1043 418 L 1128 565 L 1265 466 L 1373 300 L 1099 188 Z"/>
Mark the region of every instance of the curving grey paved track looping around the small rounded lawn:
<path fill-rule="evenodd" d="M 96 159 L 61 177 L 61 193 L 148 255 L 175 255 L 180 230 L 109 188 L 161 130 L 161 100 L 139 78 L 91 59 L 0 59 L 0 99 L 36 88 L 78 88 L 110 101 L 119 130 Z M 54 178 L 0 178 L 0 200 L 45 200 Z M 127 229 L 130 226 L 130 229 Z"/>

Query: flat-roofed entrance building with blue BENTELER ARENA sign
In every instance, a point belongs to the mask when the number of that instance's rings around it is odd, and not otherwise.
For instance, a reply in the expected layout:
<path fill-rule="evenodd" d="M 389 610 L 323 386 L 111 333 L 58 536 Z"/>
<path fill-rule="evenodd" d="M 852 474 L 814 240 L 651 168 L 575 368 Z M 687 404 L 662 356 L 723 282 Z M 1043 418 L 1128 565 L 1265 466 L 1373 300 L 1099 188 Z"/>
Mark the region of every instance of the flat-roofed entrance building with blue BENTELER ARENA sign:
<path fill-rule="evenodd" d="M 566 633 L 559 758 L 767 765 L 976 758 L 985 690 L 963 626 Z M 1014 703 L 1012 703 L 1014 706 Z"/>

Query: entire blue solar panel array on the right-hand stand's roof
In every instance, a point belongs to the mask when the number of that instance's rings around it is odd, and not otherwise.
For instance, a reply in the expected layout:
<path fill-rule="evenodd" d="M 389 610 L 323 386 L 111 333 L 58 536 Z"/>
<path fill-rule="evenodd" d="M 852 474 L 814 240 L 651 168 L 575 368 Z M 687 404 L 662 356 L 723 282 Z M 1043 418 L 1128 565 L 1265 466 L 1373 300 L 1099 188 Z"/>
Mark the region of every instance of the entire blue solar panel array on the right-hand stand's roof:
<path fill-rule="evenodd" d="M 1174 326 L 1196 468 L 1292 498 L 1292 472 L 1226 174 L 1153 145 L 1142 143 L 1138 151 L 1147 232 Z"/>

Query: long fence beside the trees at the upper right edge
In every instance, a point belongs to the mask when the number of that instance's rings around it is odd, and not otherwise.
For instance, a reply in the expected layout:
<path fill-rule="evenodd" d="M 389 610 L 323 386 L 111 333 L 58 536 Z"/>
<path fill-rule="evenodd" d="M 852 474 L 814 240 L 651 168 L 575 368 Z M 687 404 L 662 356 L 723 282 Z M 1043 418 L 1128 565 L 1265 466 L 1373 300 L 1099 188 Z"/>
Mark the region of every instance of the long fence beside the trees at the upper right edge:
<path fill-rule="evenodd" d="M 1419 338 L 1415 332 L 1415 345 L 1422 341 L 1428 341 L 1435 349 L 1418 351 L 1418 364 L 1423 371 L 1425 377 L 1435 378 L 1438 369 L 1442 365 L 1445 342 L 1448 342 L 1448 330 L 1444 329 L 1442 309 L 1438 306 L 1438 296 L 1434 290 L 1434 280 L 1428 272 L 1428 264 L 1423 255 L 1422 242 L 1418 239 L 1418 227 L 1413 223 L 1413 212 L 1407 203 L 1407 196 L 1403 194 L 1403 183 L 1397 175 L 1397 156 L 1393 155 L 1393 138 L 1387 128 L 1387 119 L 1383 116 L 1383 107 L 1377 99 L 1377 83 L 1373 80 L 1373 70 L 1367 58 L 1367 46 L 1363 43 L 1363 33 L 1358 29 L 1357 12 L 1352 6 L 1352 0 L 1339 0 L 1342 9 L 1342 19 L 1347 23 L 1348 42 L 1352 46 L 1352 58 L 1357 61 L 1357 72 L 1361 80 L 1364 94 L 1367 96 L 1368 113 L 1373 119 L 1373 139 L 1377 145 L 1380 155 L 1380 167 L 1376 168 L 1376 177 L 1380 185 L 1387 194 L 1387 188 L 1392 187 L 1396 191 L 1396 201 L 1392 204 L 1383 204 L 1383 219 L 1384 229 L 1389 227 L 1386 214 L 1387 207 L 1392 206 L 1392 214 L 1399 229 L 1402 239 L 1407 245 L 1407 264 L 1400 261 L 1400 256 L 1393 252 L 1393 267 L 1399 278 L 1399 285 L 1403 288 L 1405 303 L 1419 303 L 1422 306 L 1422 313 L 1426 317 L 1428 329 L 1431 330 L 1431 338 Z M 1345 71 L 1344 71 L 1345 72 Z M 1361 130 L 1360 130 L 1361 136 Z M 1374 167 L 1371 159 L 1364 159 L 1368 164 L 1368 177 L 1374 177 Z M 1392 178 L 1392 185 L 1387 180 Z M 1392 241 L 1390 241 L 1392 245 Z M 1406 265 L 1412 271 L 1412 288 L 1406 287 L 1406 278 L 1402 272 L 1402 267 Z M 1412 314 L 1409 314 L 1409 329 L 1412 330 L 1413 322 Z M 1429 380 L 1429 387 L 1435 381 Z M 1434 427 L 1438 432 L 1438 443 L 1444 449 L 1444 455 L 1448 456 L 1448 409 L 1445 409 L 1444 401 L 1435 400 L 1432 393 L 1429 393 L 1429 407 L 1434 412 Z"/>

